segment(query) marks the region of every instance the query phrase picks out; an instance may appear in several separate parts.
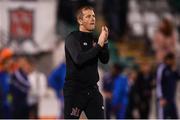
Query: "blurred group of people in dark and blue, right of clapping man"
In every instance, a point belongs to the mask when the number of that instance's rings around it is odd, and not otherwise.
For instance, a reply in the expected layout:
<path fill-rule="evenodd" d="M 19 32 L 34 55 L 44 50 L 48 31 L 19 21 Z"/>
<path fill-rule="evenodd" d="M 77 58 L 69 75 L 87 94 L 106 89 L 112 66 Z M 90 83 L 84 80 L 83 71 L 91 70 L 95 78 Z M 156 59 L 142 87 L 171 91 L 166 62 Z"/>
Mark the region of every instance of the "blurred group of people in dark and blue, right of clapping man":
<path fill-rule="evenodd" d="M 180 79 L 173 53 L 167 53 L 157 66 L 147 59 L 138 68 L 114 64 L 103 77 L 106 118 L 148 119 L 152 94 L 156 90 L 156 118 L 178 119 L 177 81 Z"/>

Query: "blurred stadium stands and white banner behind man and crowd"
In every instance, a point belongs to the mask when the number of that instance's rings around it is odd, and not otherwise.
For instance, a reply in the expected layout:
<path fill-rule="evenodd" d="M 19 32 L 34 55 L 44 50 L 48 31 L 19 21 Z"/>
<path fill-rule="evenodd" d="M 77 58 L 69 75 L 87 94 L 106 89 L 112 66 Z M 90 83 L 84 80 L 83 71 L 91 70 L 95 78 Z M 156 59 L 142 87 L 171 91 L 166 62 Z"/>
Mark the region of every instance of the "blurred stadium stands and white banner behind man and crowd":
<path fill-rule="evenodd" d="M 82 5 L 94 6 L 97 34 L 101 25 L 110 29 L 111 59 L 108 65 L 100 65 L 101 78 L 113 63 L 136 67 L 148 60 L 155 64 L 153 37 L 162 17 L 172 19 L 180 33 L 178 0 L 0 0 L 0 50 L 10 48 L 17 55 L 33 57 L 37 69 L 48 77 L 64 61 L 64 39 L 77 28 L 74 11 Z M 179 45 L 178 38 L 178 49 Z M 177 102 L 180 114 L 178 92 Z M 150 118 L 156 118 L 153 100 L 152 106 Z M 57 117 L 59 110 L 54 91 L 47 87 L 40 117 Z"/>

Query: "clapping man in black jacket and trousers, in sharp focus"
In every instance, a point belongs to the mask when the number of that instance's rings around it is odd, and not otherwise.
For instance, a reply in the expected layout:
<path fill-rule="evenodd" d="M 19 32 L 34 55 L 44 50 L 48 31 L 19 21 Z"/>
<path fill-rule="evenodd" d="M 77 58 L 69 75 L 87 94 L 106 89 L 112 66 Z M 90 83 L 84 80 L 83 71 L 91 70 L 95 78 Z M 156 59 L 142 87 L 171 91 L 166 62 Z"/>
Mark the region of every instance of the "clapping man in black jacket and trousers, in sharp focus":
<path fill-rule="evenodd" d="M 103 97 L 97 86 L 98 59 L 109 60 L 108 29 L 102 27 L 99 39 L 94 38 L 95 14 L 92 7 L 77 12 L 79 31 L 70 33 L 65 41 L 66 80 L 64 84 L 64 118 L 80 117 L 82 110 L 89 119 L 104 118 Z"/>

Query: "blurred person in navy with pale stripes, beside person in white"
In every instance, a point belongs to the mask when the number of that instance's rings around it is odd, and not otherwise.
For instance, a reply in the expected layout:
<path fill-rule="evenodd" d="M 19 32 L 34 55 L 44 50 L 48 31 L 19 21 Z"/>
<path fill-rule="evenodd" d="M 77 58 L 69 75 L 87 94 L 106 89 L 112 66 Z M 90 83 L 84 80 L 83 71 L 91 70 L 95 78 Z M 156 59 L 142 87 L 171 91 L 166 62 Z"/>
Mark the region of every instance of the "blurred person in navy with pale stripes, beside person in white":
<path fill-rule="evenodd" d="M 27 58 L 20 56 L 17 61 L 18 69 L 11 75 L 10 93 L 12 95 L 12 117 L 15 119 L 29 118 L 27 102 L 30 83 L 28 80 L 29 64 Z"/>

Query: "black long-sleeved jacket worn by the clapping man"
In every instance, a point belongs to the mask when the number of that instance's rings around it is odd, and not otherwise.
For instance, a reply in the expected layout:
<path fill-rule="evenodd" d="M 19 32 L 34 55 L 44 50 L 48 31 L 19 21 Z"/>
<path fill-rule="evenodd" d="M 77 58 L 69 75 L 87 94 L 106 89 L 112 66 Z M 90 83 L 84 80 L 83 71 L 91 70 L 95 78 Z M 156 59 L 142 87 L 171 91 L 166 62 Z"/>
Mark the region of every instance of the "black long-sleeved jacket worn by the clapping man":
<path fill-rule="evenodd" d="M 109 60 L 108 45 L 97 44 L 93 33 L 75 31 L 65 40 L 66 80 L 64 91 L 82 90 L 96 85 L 99 80 L 98 59 Z"/>

